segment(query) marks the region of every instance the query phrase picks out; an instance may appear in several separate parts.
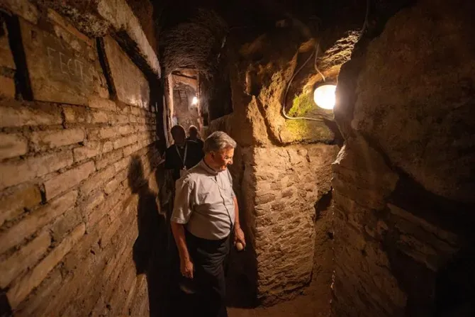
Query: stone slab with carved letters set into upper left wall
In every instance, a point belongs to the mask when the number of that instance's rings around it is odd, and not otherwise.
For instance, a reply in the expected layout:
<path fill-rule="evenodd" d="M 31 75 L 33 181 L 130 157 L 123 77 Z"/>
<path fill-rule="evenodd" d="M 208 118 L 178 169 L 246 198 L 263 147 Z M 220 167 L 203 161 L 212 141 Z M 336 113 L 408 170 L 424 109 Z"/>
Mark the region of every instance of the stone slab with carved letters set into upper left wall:
<path fill-rule="evenodd" d="M 91 58 L 95 48 L 71 34 L 58 37 L 65 34 L 57 31 L 60 28 L 45 30 L 21 21 L 33 99 L 87 104 L 88 96 L 101 84 L 99 63 Z"/>

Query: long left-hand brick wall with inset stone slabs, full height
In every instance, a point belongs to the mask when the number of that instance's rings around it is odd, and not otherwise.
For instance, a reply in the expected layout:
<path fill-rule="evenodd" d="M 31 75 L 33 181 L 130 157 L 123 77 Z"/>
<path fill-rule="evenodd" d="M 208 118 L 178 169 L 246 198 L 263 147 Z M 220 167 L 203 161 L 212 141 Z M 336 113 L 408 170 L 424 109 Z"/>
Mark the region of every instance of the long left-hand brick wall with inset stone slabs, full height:
<path fill-rule="evenodd" d="M 160 226 L 148 77 L 113 38 L 89 38 L 45 6 L 5 5 L 2 301 L 16 316 L 143 316 L 150 287 L 136 240 L 147 215 Z"/>

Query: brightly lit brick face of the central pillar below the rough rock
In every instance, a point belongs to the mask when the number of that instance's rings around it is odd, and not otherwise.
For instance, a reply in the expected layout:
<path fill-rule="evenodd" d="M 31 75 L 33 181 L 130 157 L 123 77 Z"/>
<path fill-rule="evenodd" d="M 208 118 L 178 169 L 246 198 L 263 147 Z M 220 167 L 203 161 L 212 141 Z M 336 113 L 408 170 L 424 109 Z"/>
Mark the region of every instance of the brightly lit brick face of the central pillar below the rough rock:
<path fill-rule="evenodd" d="M 331 190 L 330 165 L 338 150 L 337 145 L 322 144 L 254 150 L 254 188 L 247 191 L 255 190 L 250 209 L 255 226 L 258 294 L 264 303 L 286 299 L 311 282 L 313 267 L 320 267 L 313 278 L 322 271 L 330 272 L 325 250 L 330 250 L 331 244 L 322 238 L 327 231 L 320 226 L 330 223 L 330 214 L 317 215 L 315 204 Z M 321 287 L 328 288 L 329 283 Z"/>

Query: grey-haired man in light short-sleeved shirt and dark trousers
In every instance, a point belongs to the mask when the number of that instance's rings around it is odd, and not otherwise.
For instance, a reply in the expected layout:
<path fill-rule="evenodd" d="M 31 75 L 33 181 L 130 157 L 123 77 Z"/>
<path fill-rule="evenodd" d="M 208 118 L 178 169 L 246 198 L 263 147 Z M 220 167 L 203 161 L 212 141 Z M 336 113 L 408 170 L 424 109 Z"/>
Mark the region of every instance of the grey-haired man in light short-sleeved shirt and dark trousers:
<path fill-rule="evenodd" d="M 203 160 L 177 181 L 172 231 L 181 274 L 193 281 L 199 296 L 199 316 L 228 316 L 223 261 L 231 233 L 234 244 L 245 246 L 228 171 L 235 147 L 235 140 L 226 133 L 211 134 L 204 142 Z"/>

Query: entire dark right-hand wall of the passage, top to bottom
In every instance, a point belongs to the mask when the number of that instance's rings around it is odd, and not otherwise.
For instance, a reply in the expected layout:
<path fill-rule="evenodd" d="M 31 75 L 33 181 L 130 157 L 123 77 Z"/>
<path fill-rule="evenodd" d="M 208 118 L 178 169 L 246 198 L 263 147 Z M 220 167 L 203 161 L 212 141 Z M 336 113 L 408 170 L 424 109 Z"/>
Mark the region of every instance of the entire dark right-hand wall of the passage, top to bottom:
<path fill-rule="evenodd" d="M 333 316 L 475 312 L 474 9 L 418 1 L 342 67 Z"/>

